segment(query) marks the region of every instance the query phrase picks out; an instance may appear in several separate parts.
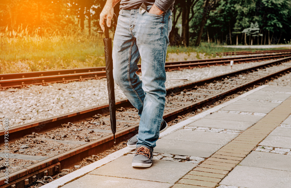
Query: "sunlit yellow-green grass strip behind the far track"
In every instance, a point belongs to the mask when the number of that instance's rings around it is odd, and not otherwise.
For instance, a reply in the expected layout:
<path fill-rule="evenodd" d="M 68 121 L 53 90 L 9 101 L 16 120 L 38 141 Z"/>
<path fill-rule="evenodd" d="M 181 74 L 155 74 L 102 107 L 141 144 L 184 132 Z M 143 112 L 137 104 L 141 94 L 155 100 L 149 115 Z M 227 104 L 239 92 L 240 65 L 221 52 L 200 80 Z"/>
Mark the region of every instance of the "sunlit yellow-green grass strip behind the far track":
<path fill-rule="evenodd" d="M 0 74 L 105 66 L 103 36 L 68 33 L 50 37 L 30 36 L 27 30 L 0 33 Z M 246 50 L 259 49 L 224 48 L 208 43 L 199 47 L 168 47 L 168 53 L 197 52 L 197 58 L 199 54 L 212 58 L 215 52 Z"/>

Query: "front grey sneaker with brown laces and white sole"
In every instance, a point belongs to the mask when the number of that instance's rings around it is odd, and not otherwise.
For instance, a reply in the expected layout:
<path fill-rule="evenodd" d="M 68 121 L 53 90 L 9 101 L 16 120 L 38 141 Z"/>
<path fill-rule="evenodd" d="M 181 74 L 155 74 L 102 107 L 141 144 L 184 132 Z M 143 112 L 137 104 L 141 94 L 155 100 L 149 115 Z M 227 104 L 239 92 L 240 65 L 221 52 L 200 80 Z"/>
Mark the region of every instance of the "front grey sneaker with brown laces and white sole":
<path fill-rule="evenodd" d="M 135 155 L 132 159 L 132 167 L 147 168 L 152 166 L 152 149 L 140 146 L 135 149 Z"/>

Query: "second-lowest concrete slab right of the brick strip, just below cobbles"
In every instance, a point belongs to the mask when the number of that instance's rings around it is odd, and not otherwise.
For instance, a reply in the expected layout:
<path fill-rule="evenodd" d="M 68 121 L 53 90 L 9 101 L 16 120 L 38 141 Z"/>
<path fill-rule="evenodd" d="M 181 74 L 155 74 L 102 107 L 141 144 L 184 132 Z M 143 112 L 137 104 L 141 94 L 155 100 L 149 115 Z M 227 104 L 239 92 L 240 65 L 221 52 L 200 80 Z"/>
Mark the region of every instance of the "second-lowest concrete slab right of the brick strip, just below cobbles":
<path fill-rule="evenodd" d="M 291 155 L 253 151 L 240 165 L 291 171 Z"/>

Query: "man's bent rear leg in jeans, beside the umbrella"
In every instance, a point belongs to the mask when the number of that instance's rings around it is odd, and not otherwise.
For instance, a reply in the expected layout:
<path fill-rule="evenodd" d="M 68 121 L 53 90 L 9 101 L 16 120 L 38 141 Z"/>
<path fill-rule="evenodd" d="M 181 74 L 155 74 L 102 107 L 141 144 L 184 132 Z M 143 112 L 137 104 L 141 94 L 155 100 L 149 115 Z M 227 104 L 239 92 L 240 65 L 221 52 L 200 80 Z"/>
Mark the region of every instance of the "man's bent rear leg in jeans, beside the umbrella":
<path fill-rule="evenodd" d="M 118 22 L 113 40 L 113 77 L 116 84 L 120 86 L 129 102 L 139 110 L 139 116 L 143 111 L 143 100 L 145 98 L 142 82 L 136 71 L 139 69 L 139 50 L 136 38 L 131 33 L 133 10 L 120 10 Z"/>

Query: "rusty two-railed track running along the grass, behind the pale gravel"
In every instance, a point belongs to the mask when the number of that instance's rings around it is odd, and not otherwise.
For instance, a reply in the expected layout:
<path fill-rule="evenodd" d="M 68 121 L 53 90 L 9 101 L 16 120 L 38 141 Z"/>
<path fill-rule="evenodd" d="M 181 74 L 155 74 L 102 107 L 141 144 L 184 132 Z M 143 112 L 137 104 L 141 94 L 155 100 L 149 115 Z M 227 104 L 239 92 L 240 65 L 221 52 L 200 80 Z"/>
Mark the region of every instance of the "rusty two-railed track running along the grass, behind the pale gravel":
<path fill-rule="evenodd" d="M 231 60 L 234 63 L 261 61 L 266 59 L 276 59 L 291 56 L 290 52 L 281 52 L 280 54 L 267 54 L 259 56 L 245 56 L 236 58 L 220 58 L 207 59 L 199 61 L 181 61 L 181 62 L 167 62 L 165 65 L 166 71 L 181 70 L 185 68 L 206 67 L 211 65 L 228 64 Z M 141 72 L 141 65 L 139 71 Z M 24 72 L 13 74 L 0 75 L 0 90 L 5 90 L 10 87 L 23 87 L 27 85 L 44 85 L 48 83 L 67 83 L 69 81 L 84 81 L 86 79 L 100 79 L 106 77 L 105 67 L 82 68 L 82 69 L 68 69 L 57 71 L 38 71 L 38 72 Z"/>

